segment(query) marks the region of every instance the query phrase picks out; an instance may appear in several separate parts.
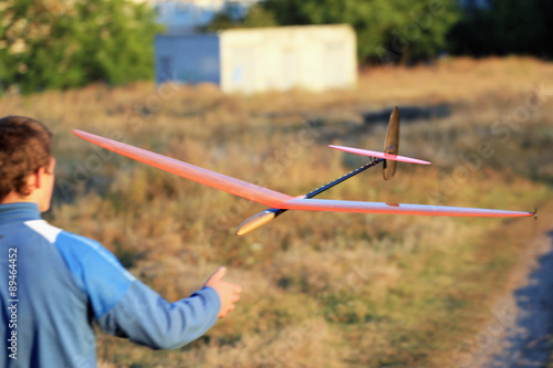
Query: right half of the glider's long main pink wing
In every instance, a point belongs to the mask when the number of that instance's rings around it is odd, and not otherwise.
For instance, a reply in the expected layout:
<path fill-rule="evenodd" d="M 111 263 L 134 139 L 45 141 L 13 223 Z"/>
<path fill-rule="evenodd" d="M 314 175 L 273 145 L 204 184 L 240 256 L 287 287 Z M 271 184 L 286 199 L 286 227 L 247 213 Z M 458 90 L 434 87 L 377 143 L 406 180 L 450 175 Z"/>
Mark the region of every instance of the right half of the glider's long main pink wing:
<path fill-rule="evenodd" d="M 357 202 L 357 201 L 302 199 L 302 198 L 291 199 L 284 203 L 281 203 L 279 208 L 286 210 L 306 210 L 306 211 L 462 215 L 462 217 L 483 217 L 483 218 L 534 215 L 534 212 L 487 210 L 480 208 L 382 203 L 382 202 Z"/>

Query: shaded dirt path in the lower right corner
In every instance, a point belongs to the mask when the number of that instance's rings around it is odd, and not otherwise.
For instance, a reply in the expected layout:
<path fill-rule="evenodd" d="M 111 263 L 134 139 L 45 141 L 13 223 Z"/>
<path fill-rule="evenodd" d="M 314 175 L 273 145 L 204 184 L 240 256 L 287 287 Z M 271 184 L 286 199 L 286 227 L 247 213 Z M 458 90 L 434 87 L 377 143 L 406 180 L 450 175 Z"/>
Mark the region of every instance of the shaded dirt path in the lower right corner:
<path fill-rule="evenodd" d="M 479 349 L 465 367 L 546 367 L 553 349 L 553 230 L 529 244 L 514 288 L 478 334 Z"/>

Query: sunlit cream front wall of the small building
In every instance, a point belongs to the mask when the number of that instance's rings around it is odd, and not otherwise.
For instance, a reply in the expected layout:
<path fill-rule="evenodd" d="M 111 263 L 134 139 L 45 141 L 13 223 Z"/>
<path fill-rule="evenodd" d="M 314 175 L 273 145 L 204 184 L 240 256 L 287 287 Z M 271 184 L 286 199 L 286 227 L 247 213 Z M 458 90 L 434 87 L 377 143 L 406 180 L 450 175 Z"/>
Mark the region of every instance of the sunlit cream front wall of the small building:
<path fill-rule="evenodd" d="M 355 85 L 355 32 L 348 25 L 228 30 L 221 39 L 221 88 L 254 93 Z"/>

